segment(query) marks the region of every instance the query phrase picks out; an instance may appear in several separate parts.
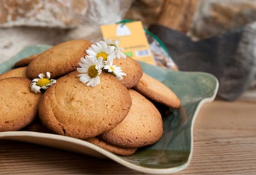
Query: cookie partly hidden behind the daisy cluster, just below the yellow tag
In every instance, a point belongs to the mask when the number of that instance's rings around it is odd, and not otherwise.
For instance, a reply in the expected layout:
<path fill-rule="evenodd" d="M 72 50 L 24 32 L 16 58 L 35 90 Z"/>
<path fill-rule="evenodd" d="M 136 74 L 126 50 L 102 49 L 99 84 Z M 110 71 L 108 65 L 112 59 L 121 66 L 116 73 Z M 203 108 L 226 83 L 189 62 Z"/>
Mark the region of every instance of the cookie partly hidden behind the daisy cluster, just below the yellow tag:
<path fill-rule="evenodd" d="M 126 76 L 122 76 L 121 82 L 127 89 L 133 88 L 139 83 L 143 71 L 137 60 L 127 56 L 126 59 L 114 59 L 113 64 L 121 67 L 122 72 L 126 73 Z"/>

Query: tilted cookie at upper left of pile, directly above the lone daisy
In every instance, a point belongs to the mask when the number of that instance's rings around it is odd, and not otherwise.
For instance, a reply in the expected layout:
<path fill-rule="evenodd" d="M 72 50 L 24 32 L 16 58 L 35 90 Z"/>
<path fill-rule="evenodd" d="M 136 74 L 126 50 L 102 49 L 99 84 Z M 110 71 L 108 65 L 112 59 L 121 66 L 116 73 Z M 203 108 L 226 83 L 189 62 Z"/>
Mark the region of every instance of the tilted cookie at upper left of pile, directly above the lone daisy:
<path fill-rule="evenodd" d="M 81 57 L 92 43 L 83 39 L 66 41 L 51 47 L 33 59 L 27 67 L 27 76 L 37 78 L 40 73 L 49 71 L 51 78 L 58 78 L 79 67 Z"/>

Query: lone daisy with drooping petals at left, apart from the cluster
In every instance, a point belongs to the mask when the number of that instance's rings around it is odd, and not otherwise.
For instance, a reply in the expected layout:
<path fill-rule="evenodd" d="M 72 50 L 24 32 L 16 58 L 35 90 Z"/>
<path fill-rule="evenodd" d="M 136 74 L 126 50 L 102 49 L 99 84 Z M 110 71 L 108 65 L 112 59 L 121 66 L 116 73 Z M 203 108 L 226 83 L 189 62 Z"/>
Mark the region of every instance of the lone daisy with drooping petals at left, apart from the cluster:
<path fill-rule="evenodd" d="M 46 90 L 49 88 L 49 86 L 52 86 L 54 83 L 56 83 L 55 79 L 50 79 L 51 76 L 49 71 L 46 72 L 46 75 L 40 73 L 38 77 L 39 78 L 33 79 L 32 83 L 30 84 L 31 91 L 35 92 L 36 94 L 41 92 L 41 89 Z"/>

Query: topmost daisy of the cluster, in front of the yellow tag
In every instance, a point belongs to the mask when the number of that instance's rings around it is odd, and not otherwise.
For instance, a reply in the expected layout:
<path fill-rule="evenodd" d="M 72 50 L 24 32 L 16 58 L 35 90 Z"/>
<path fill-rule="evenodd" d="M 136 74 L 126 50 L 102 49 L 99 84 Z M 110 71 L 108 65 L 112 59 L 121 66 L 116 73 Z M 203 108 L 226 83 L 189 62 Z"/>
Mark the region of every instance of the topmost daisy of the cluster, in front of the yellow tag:
<path fill-rule="evenodd" d="M 92 44 L 86 51 L 88 57 L 100 57 L 103 61 L 108 60 L 109 57 L 114 57 L 115 55 L 114 46 L 108 46 L 105 41 L 99 41 L 96 44 Z"/>

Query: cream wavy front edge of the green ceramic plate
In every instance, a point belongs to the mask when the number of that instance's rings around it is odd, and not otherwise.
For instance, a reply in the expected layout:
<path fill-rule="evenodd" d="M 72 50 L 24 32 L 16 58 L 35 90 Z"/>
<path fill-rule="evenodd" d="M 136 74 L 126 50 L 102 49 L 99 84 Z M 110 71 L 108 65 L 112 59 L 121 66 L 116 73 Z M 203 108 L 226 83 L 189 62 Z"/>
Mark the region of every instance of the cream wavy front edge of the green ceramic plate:
<path fill-rule="evenodd" d="M 150 174 L 168 174 L 168 173 L 176 173 L 178 171 L 181 171 L 182 169 L 185 169 L 189 166 L 191 160 L 192 160 L 192 154 L 193 154 L 193 130 L 194 130 L 194 124 L 195 120 L 197 118 L 198 112 L 200 111 L 200 108 L 202 108 L 203 104 L 207 102 L 213 102 L 213 100 L 216 97 L 216 93 L 218 91 L 218 81 L 216 80 L 216 87 L 215 87 L 215 92 L 213 93 L 213 96 L 210 98 L 203 99 L 199 102 L 197 110 L 195 110 L 193 119 L 192 119 L 192 125 L 191 125 L 191 131 L 190 131 L 190 137 L 191 137 L 191 150 L 189 154 L 189 158 L 187 162 L 184 165 L 181 166 L 176 166 L 173 168 L 145 168 L 139 165 L 134 165 L 130 163 L 129 161 L 123 160 L 121 156 L 115 155 L 114 153 L 108 152 L 105 149 L 101 149 L 100 147 L 93 145 L 89 142 L 86 142 L 85 140 L 80 140 L 80 139 L 75 139 L 72 137 L 67 137 L 67 136 L 61 136 L 57 134 L 49 134 L 49 133 L 43 133 L 43 132 L 33 132 L 33 131 L 5 131 L 5 132 L 0 132 L 0 139 L 7 139 L 7 140 L 17 140 L 17 141 L 23 141 L 23 142 L 29 142 L 32 144 L 40 144 L 40 145 L 45 145 L 49 147 L 54 147 L 57 149 L 62 149 L 62 150 L 69 150 L 70 147 L 67 146 L 68 144 L 75 144 L 78 147 L 75 147 L 75 149 L 72 149 L 73 152 L 78 152 L 78 153 L 83 153 L 86 155 L 90 155 L 93 157 L 98 157 L 98 158 L 110 158 L 113 161 L 116 161 L 117 163 L 126 166 L 127 168 L 134 169 L 135 171 L 139 171 L 142 173 L 150 173 Z M 38 140 L 33 140 L 33 139 L 40 139 Z M 44 140 L 42 140 L 44 139 Z M 53 142 L 54 140 L 54 142 Z M 44 142 L 42 142 L 44 141 Z M 52 143 L 49 144 L 49 141 Z M 58 146 L 54 145 L 54 143 L 61 143 Z M 65 143 L 65 144 L 63 144 Z M 84 150 L 87 148 L 86 150 Z M 93 150 L 94 152 L 89 152 L 90 150 Z M 99 154 L 98 154 L 99 153 Z"/>

